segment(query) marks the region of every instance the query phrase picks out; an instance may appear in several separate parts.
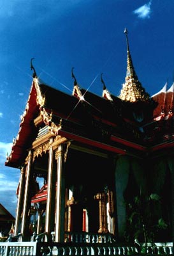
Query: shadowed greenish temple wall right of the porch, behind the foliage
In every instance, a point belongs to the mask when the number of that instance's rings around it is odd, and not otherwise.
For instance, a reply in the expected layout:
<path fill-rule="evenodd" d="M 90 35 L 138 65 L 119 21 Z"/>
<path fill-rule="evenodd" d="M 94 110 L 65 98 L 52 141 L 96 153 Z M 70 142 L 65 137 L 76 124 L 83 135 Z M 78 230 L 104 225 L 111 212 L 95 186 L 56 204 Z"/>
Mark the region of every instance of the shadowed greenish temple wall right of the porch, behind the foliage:
<path fill-rule="evenodd" d="M 161 228 L 156 236 L 159 241 L 164 237 L 171 241 L 173 231 L 173 176 L 174 159 L 172 156 L 156 159 L 139 160 L 134 157 L 120 156 L 115 166 L 115 195 L 117 205 L 117 232 L 120 241 L 125 240 L 127 204 L 133 202 L 135 196 L 151 194 L 159 196 L 159 202 L 152 206 L 155 223 L 161 218 L 168 226 Z M 163 236 L 164 235 L 164 236 Z"/>

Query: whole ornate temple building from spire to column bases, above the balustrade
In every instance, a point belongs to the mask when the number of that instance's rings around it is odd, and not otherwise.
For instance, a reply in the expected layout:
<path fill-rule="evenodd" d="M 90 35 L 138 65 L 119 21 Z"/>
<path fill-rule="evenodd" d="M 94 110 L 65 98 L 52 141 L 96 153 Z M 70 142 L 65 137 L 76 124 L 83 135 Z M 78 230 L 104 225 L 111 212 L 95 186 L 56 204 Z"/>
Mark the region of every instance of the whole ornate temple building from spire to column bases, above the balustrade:
<path fill-rule="evenodd" d="M 120 95 L 80 88 L 72 95 L 40 82 L 6 166 L 20 170 L 15 235 L 111 234 L 115 241 L 173 241 L 173 85 L 150 97 L 127 43 Z"/>

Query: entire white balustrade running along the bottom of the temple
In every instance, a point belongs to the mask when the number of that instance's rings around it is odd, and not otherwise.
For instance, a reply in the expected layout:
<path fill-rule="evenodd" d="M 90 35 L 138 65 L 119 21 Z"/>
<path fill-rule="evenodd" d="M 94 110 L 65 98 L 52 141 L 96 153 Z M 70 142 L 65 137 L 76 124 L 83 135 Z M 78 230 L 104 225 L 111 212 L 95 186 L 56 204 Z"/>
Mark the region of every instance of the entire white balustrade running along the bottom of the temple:
<path fill-rule="evenodd" d="M 21 235 L 18 236 L 21 238 Z M 31 242 L 0 243 L 0 256 L 118 256 L 118 255 L 174 255 L 173 243 L 141 244 L 141 246 L 116 243 L 111 234 L 66 232 L 65 243 L 54 243 L 46 232 L 32 237 Z M 143 245 L 143 246 L 142 246 Z M 143 252 L 143 249 L 144 252 Z"/>

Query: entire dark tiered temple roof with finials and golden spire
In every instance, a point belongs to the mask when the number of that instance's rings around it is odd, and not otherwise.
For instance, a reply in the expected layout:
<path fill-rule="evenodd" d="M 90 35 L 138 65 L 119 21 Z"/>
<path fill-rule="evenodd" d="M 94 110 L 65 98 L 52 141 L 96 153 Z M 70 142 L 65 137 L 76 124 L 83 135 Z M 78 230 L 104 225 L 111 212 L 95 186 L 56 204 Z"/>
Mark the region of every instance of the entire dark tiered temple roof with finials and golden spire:
<path fill-rule="evenodd" d="M 125 34 L 127 73 L 119 97 L 108 92 L 102 74 L 103 97 L 80 88 L 73 68 L 73 94 L 68 95 L 41 83 L 31 63 L 34 70 L 31 92 L 6 165 L 18 168 L 24 163 L 28 148 L 33 147 L 33 141 L 38 139 L 45 125 L 48 131 L 67 140 L 117 154 L 139 156 L 163 141 L 163 133 L 161 138 L 156 136 L 158 125 L 155 122 L 156 117 L 162 115 L 161 109 L 165 115 L 173 113 L 173 86 L 168 91 L 164 86 L 150 99 L 136 76 L 127 30 Z M 155 101 L 158 106 L 154 110 Z"/>

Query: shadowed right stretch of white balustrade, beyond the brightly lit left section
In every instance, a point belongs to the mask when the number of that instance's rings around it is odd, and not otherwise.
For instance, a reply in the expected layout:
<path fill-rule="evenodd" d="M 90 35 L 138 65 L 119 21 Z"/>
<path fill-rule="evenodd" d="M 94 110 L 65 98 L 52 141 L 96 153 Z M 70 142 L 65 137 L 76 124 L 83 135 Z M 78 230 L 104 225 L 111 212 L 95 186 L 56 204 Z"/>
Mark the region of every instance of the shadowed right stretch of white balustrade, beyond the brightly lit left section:
<path fill-rule="evenodd" d="M 140 248 L 136 248 L 135 246 L 122 246 L 117 244 L 61 244 L 61 243 L 53 243 L 52 246 L 48 246 L 48 244 L 40 244 L 40 252 L 45 252 L 45 248 L 47 249 L 47 254 L 44 255 L 76 255 L 76 256 L 118 256 L 118 255 L 173 255 L 173 246 L 155 246 L 147 247 L 147 252 L 141 252 Z"/>

